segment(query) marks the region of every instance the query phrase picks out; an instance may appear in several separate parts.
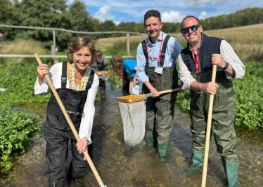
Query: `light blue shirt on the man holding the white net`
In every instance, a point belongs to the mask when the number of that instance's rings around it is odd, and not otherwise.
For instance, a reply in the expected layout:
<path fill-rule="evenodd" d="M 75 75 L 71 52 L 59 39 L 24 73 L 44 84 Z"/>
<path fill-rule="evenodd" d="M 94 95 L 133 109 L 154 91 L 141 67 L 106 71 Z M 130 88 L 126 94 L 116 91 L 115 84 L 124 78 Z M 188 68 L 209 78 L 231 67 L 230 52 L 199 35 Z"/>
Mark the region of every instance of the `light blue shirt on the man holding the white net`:
<path fill-rule="evenodd" d="M 163 41 L 165 41 L 166 36 L 167 34 L 163 33 Z M 146 44 L 147 44 L 148 38 L 145 39 Z M 149 51 L 148 55 L 150 55 L 151 57 L 157 58 L 157 60 L 154 60 L 148 57 L 149 67 L 158 67 L 160 49 L 162 48 L 162 46 L 160 46 L 161 41 L 162 41 L 162 32 L 160 32 L 160 36 L 155 41 L 154 44 L 150 43 L 150 38 L 148 39 L 148 51 Z M 162 41 L 162 45 L 163 45 L 163 41 Z M 181 45 L 178 43 L 177 39 L 174 39 L 174 37 L 171 37 L 167 43 L 167 49 L 165 53 L 165 62 L 163 64 L 163 67 L 175 66 L 175 61 L 177 57 L 179 56 L 182 49 L 183 48 L 181 48 Z M 146 58 L 144 56 L 143 48 L 140 43 L 137 48 L 136 69 L 137 69 L 138 79 L 141 82 L 149 81 L 149 78 L 148 76 L 146 76 L 146 73 L 145 73 L 145 66 L 146 66 Z"/>

